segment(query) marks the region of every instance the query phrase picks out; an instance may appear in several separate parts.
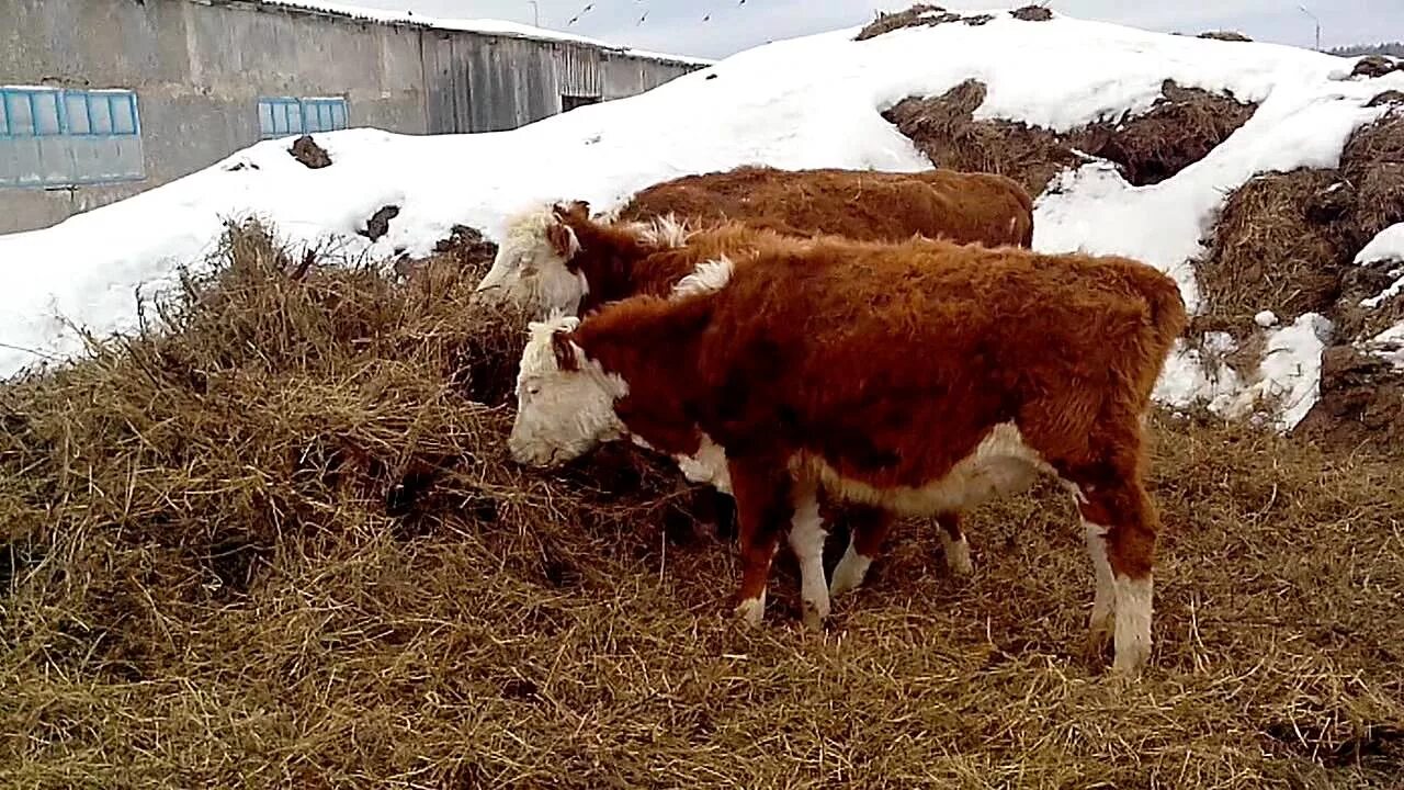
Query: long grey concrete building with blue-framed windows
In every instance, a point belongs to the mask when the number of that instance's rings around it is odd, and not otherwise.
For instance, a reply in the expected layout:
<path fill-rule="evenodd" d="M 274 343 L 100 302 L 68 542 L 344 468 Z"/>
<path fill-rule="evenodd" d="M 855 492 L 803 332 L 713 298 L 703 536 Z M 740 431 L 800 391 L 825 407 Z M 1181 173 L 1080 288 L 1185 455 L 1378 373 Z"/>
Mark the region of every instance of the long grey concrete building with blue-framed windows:
<path fill-rule="evenodd" d="M 261 138 L 521 127 L 706 65 L 511 22 L 299 0 L 0 0 L 0 233 L 171 181 Z"/>

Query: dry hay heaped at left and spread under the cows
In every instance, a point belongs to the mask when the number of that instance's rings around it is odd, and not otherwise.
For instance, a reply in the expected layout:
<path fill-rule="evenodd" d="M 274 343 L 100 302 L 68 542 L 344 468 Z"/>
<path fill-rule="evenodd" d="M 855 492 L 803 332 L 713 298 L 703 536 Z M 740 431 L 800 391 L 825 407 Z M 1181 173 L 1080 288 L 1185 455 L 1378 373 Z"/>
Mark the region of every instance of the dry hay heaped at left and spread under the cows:
<path fill-rule="evenodd" d="M 465 233 L 466 238 L 466 233 Z M 152 330 L 0 388 L 0 784 L 1384 787 L 1404 472 L 1153 420 L 1148 676 L 1081 655 L 1066 495 L 903 523 L 827 634 L 737 628 L 668 464 L 505 458 L 521 316 L 234 229 Z M 511 328 L 511 329 L 505 329 Z M 486 395 L 484 395 L 486 394 Z"/>

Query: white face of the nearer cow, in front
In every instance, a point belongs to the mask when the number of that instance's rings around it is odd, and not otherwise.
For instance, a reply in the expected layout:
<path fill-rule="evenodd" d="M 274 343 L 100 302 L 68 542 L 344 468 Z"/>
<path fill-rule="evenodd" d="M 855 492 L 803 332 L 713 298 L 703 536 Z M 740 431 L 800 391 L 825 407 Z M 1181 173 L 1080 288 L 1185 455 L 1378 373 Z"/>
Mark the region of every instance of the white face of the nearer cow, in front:
<path fill-rule="evenodd" d="M 517 373 L 517 420 L 507 439 L 518 464 L 559 467 L 626 433 L 614 403 L 629 385 L 564 337 L 578 322 L 552 316 L 531 323 Z"/>

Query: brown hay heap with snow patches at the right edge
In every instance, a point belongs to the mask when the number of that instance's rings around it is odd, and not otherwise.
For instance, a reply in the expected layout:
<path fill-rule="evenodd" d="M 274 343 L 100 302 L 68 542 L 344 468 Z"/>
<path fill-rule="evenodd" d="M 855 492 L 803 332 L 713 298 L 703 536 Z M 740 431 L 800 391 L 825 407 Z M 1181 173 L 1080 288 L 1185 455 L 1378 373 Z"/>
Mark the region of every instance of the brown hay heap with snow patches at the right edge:
<path fill-rule="evenodd" d="M 1380 231 L 1404 222 L 1404 111 L 1356 131 L 1341 166 L 1259 176 L 1234 191 L 1205 240 L 1195 270 L 1203 312 L 1193 332 L 1227 332 L 1251 353 L 1234 367 L 1251 377 L 1272 311 L 1283 323 L 1316 312 L 1331 319 L 1323 398 L 1299 434 L 1331 447 L 1404 451 L 1404 375 L 1355 346 L 1404 320 L 1404 295 L 1365 306 L 1397 278 L 1397 263 L 1356 266 Z"/>

